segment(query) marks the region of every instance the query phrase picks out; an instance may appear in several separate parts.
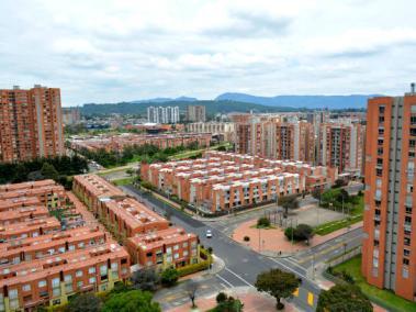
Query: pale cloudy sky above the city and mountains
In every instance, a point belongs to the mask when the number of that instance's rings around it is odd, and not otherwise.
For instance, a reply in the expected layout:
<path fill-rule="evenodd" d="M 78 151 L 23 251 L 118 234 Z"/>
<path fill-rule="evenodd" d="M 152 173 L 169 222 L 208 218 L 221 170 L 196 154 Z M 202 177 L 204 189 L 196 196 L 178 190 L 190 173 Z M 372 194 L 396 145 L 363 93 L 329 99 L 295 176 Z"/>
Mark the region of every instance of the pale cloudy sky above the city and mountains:
<path fill-rule="evenodd" d="M 0 89 L 63 105 L 223 92 L 402 94 L 414 0 L 1 0 Z"/>

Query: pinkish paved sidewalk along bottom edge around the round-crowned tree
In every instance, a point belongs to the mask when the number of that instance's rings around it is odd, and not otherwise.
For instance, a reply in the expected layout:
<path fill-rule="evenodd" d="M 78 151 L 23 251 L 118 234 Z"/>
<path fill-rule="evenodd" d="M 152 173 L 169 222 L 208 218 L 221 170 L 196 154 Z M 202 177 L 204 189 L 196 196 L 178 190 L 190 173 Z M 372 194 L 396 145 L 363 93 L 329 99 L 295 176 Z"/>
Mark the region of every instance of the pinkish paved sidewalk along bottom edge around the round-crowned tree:
<path fill-rule="evenodd" d="M 244 303 L 245 312 L 276 312 L 276 299 L 266 294 L 258 292 L 250 287 L 236 287 L 224 291 L 228 296 L 239 299 Z M 167 310 L 168 312 L 188 312 L 188 311 L 207 311 L 216 305 L 215 294 L 198 298 L 196 296 L 196 310 L 191 309 L 191 302 L 184 303 L 180 307 Z M 282 311 L 297 311 L 292 303 L 284 303 L 284 310 Z"/>

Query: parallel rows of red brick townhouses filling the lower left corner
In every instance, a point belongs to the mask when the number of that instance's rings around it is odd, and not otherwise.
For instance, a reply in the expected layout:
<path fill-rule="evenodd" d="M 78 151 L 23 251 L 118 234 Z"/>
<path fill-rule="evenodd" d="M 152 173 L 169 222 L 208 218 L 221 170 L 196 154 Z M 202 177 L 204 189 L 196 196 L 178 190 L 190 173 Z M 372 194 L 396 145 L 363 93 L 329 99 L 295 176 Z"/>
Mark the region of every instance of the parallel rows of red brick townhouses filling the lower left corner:
<path fill-rule="evenodd" d="M 49 211 L 67 203 L 52 180 L 0 186 L 0 311 L 57 305 L 110 290 L 130 276 L 130 256 L 98 229 L 64 231 Z"/>

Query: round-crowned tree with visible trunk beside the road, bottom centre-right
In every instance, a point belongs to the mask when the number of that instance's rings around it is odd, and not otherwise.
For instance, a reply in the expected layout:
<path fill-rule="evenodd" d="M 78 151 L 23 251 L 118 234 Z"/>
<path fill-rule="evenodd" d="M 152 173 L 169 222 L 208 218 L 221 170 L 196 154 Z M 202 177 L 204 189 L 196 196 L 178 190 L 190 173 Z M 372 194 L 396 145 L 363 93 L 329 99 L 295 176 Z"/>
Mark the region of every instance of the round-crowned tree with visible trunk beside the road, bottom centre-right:
<path fill-rule="evenodd" d="M 282 310 L 284 304 L 281 299 L 291 298 L 300 283 L 294 274 L 271 269 L 257 276 L 256 288 L 258 291 L 265 291 L 274 297 L 277 309 Z"/>

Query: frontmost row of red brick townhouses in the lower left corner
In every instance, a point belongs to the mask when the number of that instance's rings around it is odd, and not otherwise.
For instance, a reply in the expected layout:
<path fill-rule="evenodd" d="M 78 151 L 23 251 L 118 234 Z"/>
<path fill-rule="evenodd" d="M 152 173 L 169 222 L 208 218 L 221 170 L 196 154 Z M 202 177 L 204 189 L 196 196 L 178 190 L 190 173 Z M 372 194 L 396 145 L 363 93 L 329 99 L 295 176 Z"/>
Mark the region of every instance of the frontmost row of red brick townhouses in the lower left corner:
<path fill-rule="evenodd" d="M 0 269 L 0 311 L 57 305 L 86 291 L 106 291 L 130 276 L 127 252 L 105 243 Z"/>

